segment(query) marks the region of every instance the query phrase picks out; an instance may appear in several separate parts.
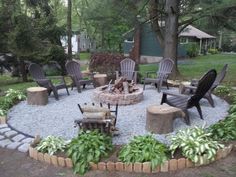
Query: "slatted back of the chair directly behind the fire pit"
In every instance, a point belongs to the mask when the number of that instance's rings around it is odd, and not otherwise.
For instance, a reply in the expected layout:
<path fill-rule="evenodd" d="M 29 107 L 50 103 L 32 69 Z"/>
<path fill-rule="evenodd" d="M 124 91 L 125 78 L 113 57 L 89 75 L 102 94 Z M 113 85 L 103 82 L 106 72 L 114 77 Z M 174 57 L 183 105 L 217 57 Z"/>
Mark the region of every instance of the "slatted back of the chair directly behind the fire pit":
<path fill-rule="evenodd" d="M 130 58 L 125 58 L 120 62 L 121 76 L 127 80 L 133 80 L 135 70 L 135 61 Z"/>

